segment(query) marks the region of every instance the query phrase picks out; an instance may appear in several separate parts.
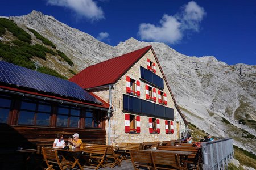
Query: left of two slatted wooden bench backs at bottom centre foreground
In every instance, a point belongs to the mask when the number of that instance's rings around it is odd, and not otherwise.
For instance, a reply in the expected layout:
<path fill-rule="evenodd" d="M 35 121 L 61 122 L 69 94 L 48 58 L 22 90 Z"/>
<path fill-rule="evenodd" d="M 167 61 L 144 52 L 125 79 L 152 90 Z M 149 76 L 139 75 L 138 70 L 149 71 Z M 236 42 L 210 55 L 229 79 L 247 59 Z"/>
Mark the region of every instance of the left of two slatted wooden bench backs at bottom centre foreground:
<path fill-rule="evenodd" d="M 153 168 L 153 162 L 151 158 L 151 152 L 143 150 L 131 150 L 131 163 L 133 163 L 134 169 L 146 167 L 147 169 Z"/>

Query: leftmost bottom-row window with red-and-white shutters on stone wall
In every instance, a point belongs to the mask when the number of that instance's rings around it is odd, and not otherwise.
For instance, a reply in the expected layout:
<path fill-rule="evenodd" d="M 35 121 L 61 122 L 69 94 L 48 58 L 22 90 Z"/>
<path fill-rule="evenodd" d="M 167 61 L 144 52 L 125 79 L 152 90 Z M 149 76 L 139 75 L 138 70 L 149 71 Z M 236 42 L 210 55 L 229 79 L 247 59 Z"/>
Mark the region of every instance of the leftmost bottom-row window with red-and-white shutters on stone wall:
<path fill-rule="evenodd" d="M 141 133 L 140 117 L 125 114 L 125 133 Z"/>

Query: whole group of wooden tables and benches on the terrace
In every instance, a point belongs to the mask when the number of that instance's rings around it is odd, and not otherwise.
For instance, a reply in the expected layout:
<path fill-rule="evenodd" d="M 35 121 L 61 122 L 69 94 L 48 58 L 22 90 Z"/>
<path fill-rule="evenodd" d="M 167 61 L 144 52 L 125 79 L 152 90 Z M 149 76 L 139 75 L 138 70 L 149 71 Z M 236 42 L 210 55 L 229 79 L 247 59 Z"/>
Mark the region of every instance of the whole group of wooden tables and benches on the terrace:
<path fill-rule="evenodd" d="M 125 169 L 202 169 L 195 165 L 196 161 L 202 161 L 198 158 L 201 157 L 200 147 L 177 147 L 162 141 L 115 145 L 83 143 L 82 147 L 67 150 L 42 147 L 43 168 L 123 169 L 125 166 Z"/>

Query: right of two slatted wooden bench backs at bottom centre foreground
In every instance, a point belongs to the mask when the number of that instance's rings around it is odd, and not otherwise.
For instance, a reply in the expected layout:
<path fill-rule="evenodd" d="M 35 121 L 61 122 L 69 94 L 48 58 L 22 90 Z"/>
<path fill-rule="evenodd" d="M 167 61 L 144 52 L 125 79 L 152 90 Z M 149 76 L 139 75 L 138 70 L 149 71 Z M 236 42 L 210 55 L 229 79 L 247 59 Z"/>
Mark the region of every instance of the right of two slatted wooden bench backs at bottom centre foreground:
<path fill-rule="evenodd" d="M 187 169 L 180 163 L 179 154 L 151 152 L 154 169 Z"/>

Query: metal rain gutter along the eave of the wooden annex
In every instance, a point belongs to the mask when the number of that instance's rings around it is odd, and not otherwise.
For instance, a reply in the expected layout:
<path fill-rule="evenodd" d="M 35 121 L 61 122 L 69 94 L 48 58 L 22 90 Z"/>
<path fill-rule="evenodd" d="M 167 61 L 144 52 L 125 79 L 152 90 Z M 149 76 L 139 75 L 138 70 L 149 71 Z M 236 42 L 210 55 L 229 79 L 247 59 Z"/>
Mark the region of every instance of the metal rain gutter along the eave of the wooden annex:
<path fill-rule="evenodd" d="M 42 96 L 36 96 L 36 95 L 31 95 L 31 94 L 25 94 L 25 93 L 22 93 L 22 92 L 16 92 L 16 91 L 10 91 L 10 90 L 5 90 L 5 89 L 2 89 L 0 88 L 0 91 L 1 92 L 7 92 L 7 93 L 10 93 L 10 94 L 15 94 L 15 95 L 21 95 L 21 96 L 28 96 L 28 97 L 34 97 L 36 99 L 42 99 L 42 100 L 48 100 L 48 101 L 55 101 L 57 103 L 61 103 L 61 104 L 70 104 L 70 105 L 75 105 L 76 107 L 86 107 L 86 108 L 90 108 L 90 109 L 98 109 L 98 110 L 101 110 L 101 111 L 108 111 L 108 109 L 106 108 L 100 108 L 100 107 L 94 107 L 92 105 L 87 105 L 87 104 L 79 104 L 79 103 L 73 103 L 71 101 L 64 101 L 64 100 L 58 100 L 58 99 L 52 99 L 52 98 L 49 98 L 49 97 L 42 97 Z"/>

